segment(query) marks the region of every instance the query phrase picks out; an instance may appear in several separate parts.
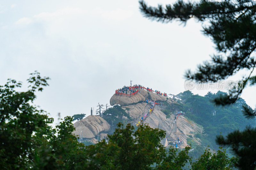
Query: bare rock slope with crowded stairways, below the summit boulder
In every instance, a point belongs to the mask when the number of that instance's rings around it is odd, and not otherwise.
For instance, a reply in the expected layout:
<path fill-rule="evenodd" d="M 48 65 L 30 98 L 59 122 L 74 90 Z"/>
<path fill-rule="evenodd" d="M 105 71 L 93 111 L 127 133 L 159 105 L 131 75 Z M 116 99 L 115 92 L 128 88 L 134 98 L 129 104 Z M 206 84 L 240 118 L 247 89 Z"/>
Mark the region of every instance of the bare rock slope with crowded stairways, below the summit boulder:
<path fill-rule="evenodd" d="M 172 103 L 172 99 L 168 99 L 167 103 Z M 147 103 L 137 103 L 128 106 L 123 106 L 123 109 L 126 110 L 135 120 L 131 123 L 134 125 L 138 122 L 138 119 L 144 117 L 145 113 L 149 109 L 149 105 Z M 166 131 L 166 137 L 177 140 L 178 136 L 180 139 L 184 140 L 184 144 L 180 145 L 180 148 L 185 148 L 187 146 L 187 138 L 188 135 L 194 136 L 196 133 L 202 133 L 203 128 L 198 126 L 196 123 L 187 120 L 185 117 L 180 116 L 177 120 L 177 129 L 176 131 L 172 131 L 174 126 L 174 114 L 171 114 L 169 118 L 166 118 L 166 115 L 161 111 L 165 109 L 165 106 L 156 105 L 154 111 L 149 114 L 143 123 L 148 124 L 151 128 L 159 128 Z M 175 127 L 176 128 L 176 127 Z M 191 136 L 190 136 L 191 137 Z M 195 140 L 195 138 L 194 138 Z M 197 141 L 200 144 L 199 140 Z"/>

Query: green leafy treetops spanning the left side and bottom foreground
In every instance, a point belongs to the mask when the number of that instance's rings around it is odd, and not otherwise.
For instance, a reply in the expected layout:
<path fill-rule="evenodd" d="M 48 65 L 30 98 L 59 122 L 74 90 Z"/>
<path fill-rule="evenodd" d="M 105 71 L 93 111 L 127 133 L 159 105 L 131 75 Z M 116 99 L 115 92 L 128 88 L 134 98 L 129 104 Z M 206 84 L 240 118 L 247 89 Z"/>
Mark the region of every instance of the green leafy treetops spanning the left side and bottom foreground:
<path fill-rule="evenodd" d="M 8 80 L 0 86 L 0 166 L 1 169 L 173 169 L 181 170 L 190 162 L 189 147 L 182 151 L 160 144 L 165 132 L 140 125 L 118 124 L 113 135 L 95 145 L 78 143 L 72 117 L 52 128 L 53 118 L 33 106 L 35 92 L 47 86 L 48 77 L 32 73 L 29 89 L 16 91 L 21 82 Z M 228 169 L 234 166 L 225 151 L 211 154 L 205 151 L 192 164 L 192 169 Z M 209 161 L 211 164 L 200 162 Z M 212 166 L 211 166 L 212 167 Z M 216 167 L 216 168 L 215 168 Z"/>

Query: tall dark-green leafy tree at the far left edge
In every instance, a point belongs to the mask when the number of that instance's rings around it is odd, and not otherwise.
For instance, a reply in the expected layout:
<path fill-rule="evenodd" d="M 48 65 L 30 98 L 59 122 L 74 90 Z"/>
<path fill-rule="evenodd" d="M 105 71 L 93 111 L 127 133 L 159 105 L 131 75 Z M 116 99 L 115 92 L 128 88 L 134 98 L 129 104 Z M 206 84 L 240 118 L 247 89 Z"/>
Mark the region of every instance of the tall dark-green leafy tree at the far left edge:
<path fill-rule="evenodd" d="M 0 86 L 0 164 L 3 169 L 28 168 L 28 156 L 33 150 L 31 142 L 35 140 L 33 132 L 45 128 L 52 119 L 45 116 L 43 110 L 37 110 L 29 102 L 36 98 L 35 91 L 42 91 L 47 86 L 48 77 L 41 77 L 38 72 L 28 79 L 30 89 L 17 92 L 22 83 L 8 79 Z"/>

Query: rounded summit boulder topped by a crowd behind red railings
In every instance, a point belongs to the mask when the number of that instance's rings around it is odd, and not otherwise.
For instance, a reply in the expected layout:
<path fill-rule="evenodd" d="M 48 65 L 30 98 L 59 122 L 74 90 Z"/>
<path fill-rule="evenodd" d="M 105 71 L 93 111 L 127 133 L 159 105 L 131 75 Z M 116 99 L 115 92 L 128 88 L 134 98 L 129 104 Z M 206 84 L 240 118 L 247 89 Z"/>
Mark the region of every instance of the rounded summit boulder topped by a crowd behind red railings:
<path fill-rule="evenodd" d="M 159 96 L 156 95 L 155 93 L 148 92 L 146 90 L 139 89 L 140 93 L 137 93 L 134 96 L 119 96 L 114 94 L 110 98 L 110 105 L 113 106 L 115 104 L 119 104 L 121 106 L 126 106 L 126 105 L 131 105 L 131 104 L 136 104 L 140 102 L 144 102 L 145 99 L 151 99 L 154 101 L 166 101 L 167 97 L 165 96 Z"/>

